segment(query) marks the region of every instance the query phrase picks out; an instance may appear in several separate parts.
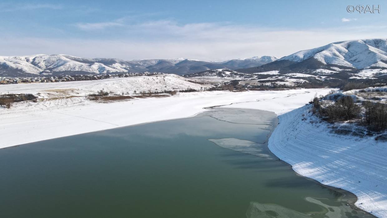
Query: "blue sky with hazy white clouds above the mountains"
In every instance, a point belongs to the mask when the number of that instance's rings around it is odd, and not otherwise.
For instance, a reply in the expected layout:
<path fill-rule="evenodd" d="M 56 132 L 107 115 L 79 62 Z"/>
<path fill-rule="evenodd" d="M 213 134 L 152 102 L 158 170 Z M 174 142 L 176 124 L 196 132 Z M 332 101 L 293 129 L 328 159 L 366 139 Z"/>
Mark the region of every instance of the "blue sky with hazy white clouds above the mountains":
<path fill-rule="evenodd" d="M 380 13 L 347 12 L 348 5 L 367 4 L 380 5 Z M 387 38 L 386 1 L 0 2 L 2 56 L 222 61 L 366 38 Z"/>

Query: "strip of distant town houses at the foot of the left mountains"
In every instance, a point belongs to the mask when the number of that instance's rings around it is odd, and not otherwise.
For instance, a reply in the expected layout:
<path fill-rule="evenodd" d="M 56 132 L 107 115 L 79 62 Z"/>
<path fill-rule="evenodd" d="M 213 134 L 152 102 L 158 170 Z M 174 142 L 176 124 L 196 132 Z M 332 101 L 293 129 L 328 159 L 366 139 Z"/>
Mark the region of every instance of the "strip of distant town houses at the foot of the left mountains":
<path fill-rule="evenodd" d="M 127 74 L 75 74 L 73 76 L 50 76 L 50 77 L 0 77 L 0 84 L 18 84 L 18 83 L 33 83 L 33 82 L 71 82 L 71 81 L 85 81 L 85 80 L 99 80 L 99 79 L 109 79 L 117 77 L 134 77 L 134 76 L 152 76 L 159 75 L 163 73 L 127 73 Z"/>

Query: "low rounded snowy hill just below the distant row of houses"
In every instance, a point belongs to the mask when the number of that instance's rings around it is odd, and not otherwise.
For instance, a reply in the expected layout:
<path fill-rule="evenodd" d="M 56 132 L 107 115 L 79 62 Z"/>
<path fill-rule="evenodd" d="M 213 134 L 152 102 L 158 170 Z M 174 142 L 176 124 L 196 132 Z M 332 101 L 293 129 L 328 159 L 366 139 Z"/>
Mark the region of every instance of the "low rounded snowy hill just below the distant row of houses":
<path fill-rule="evenodd" d="M 49 82 L 30 84 L 8 84 L 0 86 L 0 94 L 31 93 L 41 98 L 85 96 L 104 89 L 115 94 L 140 91 L 170 91 L 188 88 L 200 90 L 209 86 L 202 86 L 189 82 L 188 79 L 175 74 L 161 74 L 155 76 L 123 77 L 91 81 Z"/>

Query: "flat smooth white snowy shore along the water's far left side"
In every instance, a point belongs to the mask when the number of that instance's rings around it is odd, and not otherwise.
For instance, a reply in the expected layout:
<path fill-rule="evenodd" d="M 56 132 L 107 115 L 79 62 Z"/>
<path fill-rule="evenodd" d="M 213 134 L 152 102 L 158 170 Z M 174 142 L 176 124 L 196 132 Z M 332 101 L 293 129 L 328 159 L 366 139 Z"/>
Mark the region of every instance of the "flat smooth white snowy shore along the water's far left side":
<path fill-rule="evenodd" d="M 0 108 L 0 135 L 4 136 L 0 148 L 146 122 L 190 117 L 205 111 L 206 107 L 238 102 L 250 103 L 230 106 L 282 114 L 304 105 L 315 93 L 326 94 L 328 91 L 212 91 L 108 103 L 89 101 L 80 96 L 38 103 L 15 103 L 10 109 Z"/>

